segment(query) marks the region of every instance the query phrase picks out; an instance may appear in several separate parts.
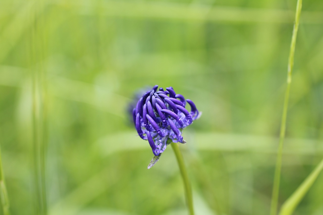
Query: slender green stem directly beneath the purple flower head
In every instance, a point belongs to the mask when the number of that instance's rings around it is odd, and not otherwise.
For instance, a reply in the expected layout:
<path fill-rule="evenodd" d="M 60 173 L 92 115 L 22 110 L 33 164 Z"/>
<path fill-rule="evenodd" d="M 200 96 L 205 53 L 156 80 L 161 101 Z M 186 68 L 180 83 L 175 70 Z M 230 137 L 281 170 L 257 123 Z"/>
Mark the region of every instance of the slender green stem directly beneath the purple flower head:
<path fill-rule="evenodd" d="M 172 142 L 171 146 L 174 150 L 174 153 L 175 153 L 175 156 L 177 159 L 177 163 L 180 168 L 180 172 L 181 172 L 182 179 L 184 182 L 185 198 L 186 198 L 188 210 L 190 211 L 190 215 L 194 215 L 192 189 L 191 189 L 190 180 L 188 178 L 187 170 L 186 170 L 186 167 L 184 164 L 184 159 L 183 159 L 182 153 L 181 153 L 177 143 Z"/>

